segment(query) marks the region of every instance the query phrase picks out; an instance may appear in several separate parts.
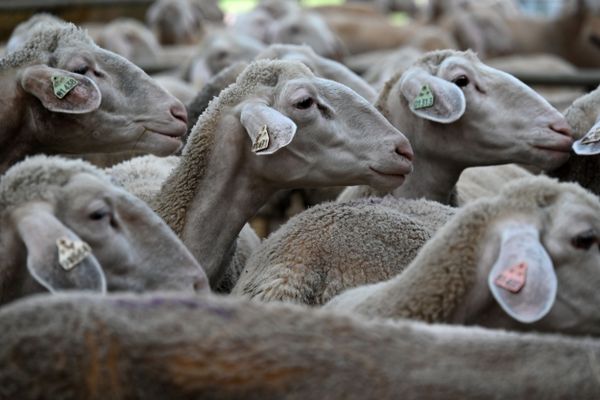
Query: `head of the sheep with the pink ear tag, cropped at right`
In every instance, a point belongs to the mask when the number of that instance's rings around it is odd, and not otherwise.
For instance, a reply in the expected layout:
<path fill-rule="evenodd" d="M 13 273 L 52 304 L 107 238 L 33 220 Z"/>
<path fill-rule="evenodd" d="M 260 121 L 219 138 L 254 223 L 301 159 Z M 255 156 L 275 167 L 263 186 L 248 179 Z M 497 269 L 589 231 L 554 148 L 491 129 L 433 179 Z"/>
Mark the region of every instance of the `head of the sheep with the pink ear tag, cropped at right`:
<path fill-rule="evenodd" d="M 507 210 L 510 216 L 494 222 L 484 239 L 479 284 L 467 302 L 472 311 L 477 310 L 469 322 L 516 330 L 600 334 L 596 307 L 600 301 L 600 204 L 569 190 L 550 203 L 529 212 Z M 524 274 L 515 267 L 522 267 Z M 499 281 L 505 278 L 514 278 L 512 288 Z M 501 308 L 491 306 L 492 297 Z"/>

